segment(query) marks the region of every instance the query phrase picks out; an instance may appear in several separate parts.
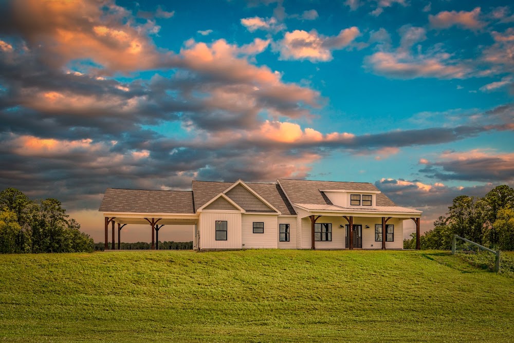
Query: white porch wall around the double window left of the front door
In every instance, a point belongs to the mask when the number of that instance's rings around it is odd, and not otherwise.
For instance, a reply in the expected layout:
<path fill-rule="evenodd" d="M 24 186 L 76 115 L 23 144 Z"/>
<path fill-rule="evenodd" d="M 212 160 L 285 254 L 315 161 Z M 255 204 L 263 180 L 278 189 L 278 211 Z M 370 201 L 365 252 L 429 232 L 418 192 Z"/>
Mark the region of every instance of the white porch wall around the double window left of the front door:
<path fill-rule="evenodd" d="M 303 218 L 301 226 L 302 232 L 302 249 L 310 249 L 312 243 L 312 226 L 310 219 Z M 332 241 L 316 241 L 316 249 L 344 249 L 345 224 L 348 222 L 342 217 L 329 217 L 321 216 L 316 223 L 331 223 L 332 224 Z M 340 225 L 343 227 L 340 227 Z"/>

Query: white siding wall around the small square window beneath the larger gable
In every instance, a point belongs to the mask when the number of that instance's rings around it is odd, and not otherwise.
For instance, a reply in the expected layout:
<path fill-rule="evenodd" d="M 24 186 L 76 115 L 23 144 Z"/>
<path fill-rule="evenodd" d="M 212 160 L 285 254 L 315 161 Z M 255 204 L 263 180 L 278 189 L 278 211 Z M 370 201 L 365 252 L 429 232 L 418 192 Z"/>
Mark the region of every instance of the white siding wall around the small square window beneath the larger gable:
<path fill-rule="evenodd" d="M 264 233 L 253 233 L 253 222 L 264 223 Z M 243 214 L 241 236 L 245 249 L 277 249 L 277 215 Z"/>

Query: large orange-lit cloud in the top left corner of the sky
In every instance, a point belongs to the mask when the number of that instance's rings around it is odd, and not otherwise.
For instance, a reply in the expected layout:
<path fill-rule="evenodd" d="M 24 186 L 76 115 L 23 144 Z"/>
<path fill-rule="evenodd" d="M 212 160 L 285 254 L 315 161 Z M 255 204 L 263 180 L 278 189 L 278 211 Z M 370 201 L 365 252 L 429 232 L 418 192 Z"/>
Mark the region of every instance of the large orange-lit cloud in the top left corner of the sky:
<path fill-rule="evenodd" d="M 126 24 L 134 22 L 132 14 L 109 0 L 17 1 L 11 20 L 29 49 L 42 49 L 53 65 L 91 59 L 109 71 L 128 72 L 155 67 L 162 57 L 148 38 L 158 27 Z"/>

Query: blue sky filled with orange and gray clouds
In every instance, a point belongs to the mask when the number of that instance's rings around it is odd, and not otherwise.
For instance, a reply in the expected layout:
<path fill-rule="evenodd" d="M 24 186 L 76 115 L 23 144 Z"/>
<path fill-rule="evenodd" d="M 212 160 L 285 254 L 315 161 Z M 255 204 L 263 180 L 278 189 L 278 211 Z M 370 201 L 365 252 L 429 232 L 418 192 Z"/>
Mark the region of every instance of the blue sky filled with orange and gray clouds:
<path fill-rule="evenodd" d="M 428 230 L 455 196 L 514 181 L 506 1 L 26 0 L 0 12 L 0 187 L 62 200 L 97 240 L 107 187 L 372 182 L 424 211 Z"/>

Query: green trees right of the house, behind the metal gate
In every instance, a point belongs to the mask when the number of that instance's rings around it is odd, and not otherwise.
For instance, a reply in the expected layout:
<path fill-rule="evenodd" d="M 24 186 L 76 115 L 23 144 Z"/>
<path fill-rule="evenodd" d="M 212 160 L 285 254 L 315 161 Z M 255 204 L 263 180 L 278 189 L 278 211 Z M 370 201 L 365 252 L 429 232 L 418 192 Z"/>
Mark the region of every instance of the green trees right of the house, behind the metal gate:
<path fill-rule="evenodd" d="M 419 237 L 421 249 L 450 250 L 455 234 L 490 249 L 514 251 L 514 189 L 501 185 L 483 198 L 456 197 L 434 228 Z M 413 233 L 403 240 L 403 248 L 415 247 Z"/>

